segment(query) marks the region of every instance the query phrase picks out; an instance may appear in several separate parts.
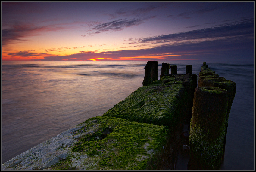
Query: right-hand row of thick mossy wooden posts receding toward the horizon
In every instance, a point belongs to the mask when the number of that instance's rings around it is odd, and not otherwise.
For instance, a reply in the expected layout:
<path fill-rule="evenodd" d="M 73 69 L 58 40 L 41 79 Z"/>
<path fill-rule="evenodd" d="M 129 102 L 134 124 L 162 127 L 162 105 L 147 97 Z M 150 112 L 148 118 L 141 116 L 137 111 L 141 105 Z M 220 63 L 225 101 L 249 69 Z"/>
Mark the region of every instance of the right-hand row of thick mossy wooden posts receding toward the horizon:
<path fill-rule="evenodd" d="M 195 89 L 189 142 L 189 170 L 220 170 L 236 83 L 203 63 Z"/>

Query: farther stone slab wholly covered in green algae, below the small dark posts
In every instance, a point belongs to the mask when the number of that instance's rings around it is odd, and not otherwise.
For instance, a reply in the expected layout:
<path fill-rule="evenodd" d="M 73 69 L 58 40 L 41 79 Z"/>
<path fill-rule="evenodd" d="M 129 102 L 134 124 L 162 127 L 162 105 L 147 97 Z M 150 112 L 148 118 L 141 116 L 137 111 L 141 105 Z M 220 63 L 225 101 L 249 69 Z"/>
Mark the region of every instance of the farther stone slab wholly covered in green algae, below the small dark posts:
<path fill-rule="evenodd" d="M 103 116 L 167 125 L 172 129 L 184 118 L 187 101 L 188 95 L 183 84 L 145 86 L 134 91 Z"/>

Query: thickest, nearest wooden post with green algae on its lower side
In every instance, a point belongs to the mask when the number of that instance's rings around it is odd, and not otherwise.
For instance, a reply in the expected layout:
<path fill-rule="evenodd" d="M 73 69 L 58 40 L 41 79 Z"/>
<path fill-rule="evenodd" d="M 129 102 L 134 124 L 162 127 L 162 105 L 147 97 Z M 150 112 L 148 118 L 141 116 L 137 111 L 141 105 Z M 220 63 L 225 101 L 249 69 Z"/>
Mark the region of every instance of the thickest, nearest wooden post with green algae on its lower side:
<path fill-rule="evenodd" d="M 220 170 L 226 129 L 228 92 L 218 87 L 195 89 L 188 170 Z"/>

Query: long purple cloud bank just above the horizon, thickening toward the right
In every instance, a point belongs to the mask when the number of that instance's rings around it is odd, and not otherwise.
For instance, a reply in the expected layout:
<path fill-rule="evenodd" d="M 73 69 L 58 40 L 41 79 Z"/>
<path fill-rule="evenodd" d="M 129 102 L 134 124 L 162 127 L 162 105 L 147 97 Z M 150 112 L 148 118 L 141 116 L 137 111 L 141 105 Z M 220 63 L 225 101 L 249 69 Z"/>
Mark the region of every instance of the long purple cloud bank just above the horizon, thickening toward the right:
<path fill-rule="evenodd" d="M 84 60 L 172 60 L 172 59 L 206 59 L 254 56 L 254 39 L 219 39 L 201 42 L 173 44 L 140 50 L 106 51 L 100 53 L 80 52 L 68 56 L 46 56 L 42 61 L 62 61 L 71 59 Z M 139 58 L 142 57 L 142 58 Z"/>

